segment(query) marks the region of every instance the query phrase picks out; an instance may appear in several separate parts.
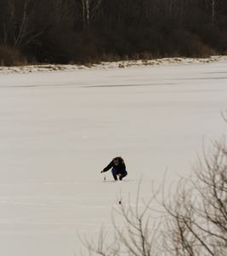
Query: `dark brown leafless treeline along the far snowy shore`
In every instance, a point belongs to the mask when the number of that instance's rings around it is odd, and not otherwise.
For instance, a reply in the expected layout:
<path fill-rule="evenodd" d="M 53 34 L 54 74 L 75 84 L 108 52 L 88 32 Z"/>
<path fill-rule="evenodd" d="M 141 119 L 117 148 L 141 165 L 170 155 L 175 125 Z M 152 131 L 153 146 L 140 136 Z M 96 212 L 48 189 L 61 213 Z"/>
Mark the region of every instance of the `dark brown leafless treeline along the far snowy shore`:
<path fill-rule="evenodd" d="M 226 0 L 0 0 L 0 65 L 227 54 Z"/>

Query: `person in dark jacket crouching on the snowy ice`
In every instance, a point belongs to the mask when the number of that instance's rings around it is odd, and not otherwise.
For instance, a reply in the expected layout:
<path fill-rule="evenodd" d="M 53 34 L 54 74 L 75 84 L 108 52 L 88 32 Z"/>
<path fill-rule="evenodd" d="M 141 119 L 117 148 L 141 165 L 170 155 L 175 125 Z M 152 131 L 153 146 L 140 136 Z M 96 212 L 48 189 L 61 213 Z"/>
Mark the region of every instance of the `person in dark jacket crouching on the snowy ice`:
<path fill-rule="evenodd" d="M 123 177 L 128 175 L 124 160 L 121 156 L 116 156 L 113 160 L 111 160 L 111 163 L 106 166 L 101 173 L 107 172 L 111 168 L 111 172 L 115 180 L 117 180 L 117 176 L 119 177 L 119 180 L 122 180 Z"/>

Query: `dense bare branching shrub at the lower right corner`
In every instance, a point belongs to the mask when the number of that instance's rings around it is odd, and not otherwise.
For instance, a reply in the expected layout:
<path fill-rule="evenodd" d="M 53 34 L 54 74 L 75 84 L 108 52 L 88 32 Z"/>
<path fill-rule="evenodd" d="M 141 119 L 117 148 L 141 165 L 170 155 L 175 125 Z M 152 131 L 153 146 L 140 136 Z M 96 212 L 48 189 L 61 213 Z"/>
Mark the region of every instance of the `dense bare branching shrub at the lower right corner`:
<path fill-rule="evenodd" d="M 224 255 L 227 252 L 227 148 L 224 137 L 204 152 L 181 179 L 177 194 L 163 198 L 168 212 L 163 241 L 171 255 Z"/>

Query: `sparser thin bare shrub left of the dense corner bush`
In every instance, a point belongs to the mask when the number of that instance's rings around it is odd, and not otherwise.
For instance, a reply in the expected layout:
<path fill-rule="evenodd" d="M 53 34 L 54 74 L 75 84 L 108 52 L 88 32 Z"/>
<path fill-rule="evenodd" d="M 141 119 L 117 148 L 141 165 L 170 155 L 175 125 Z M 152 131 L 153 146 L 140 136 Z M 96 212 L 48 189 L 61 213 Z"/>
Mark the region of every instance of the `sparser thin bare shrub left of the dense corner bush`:
<path fill-rule="evenodd" d="M 139 183 L 139 188 L 140 188 Z M 135 255 L 135 256 L 155 256 L 160 255 L 159 250 L 159 226 L 161 222 L 156 222 L 156 218 L 151 216 L 150 201 L 143 201 L 143 209 L 139 203 L 139 188 L 136 201 L 133 203 L 128 199 L 128 203 L 120 201 L 119 207 L 113 210 L 112 223 L 114 227 L 113 243 L 105 242 L 105 231 L 100 230 L 98 242 L 88 241 L 81 238 L 82 243 L 88 248 L 90 253 L 99 255 Z M 115 216 L 122 216 L 123 224 L 117 224 Z M 152 222 L 151 222 L 152 219 Z"/>

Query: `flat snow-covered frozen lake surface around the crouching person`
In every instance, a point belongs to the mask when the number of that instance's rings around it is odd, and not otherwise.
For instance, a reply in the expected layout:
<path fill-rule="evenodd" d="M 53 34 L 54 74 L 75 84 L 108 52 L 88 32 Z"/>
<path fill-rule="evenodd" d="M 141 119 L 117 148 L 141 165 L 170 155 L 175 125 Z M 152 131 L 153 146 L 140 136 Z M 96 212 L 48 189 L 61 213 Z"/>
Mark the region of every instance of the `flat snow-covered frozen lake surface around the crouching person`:
<path fill-rule="evenodd" d="M 167 185 L 189 175 L 202 142 L 226 134 L 226 60 L 24 72 L 0 72 L 3 256 L 79 255 L 77 233 L 101 226 L 111 240 L 112 209 L 134 203 L 141 176 L 149 199 L 166 170 Z M 100 174 L 117 155 L 122 182 Z"/>

